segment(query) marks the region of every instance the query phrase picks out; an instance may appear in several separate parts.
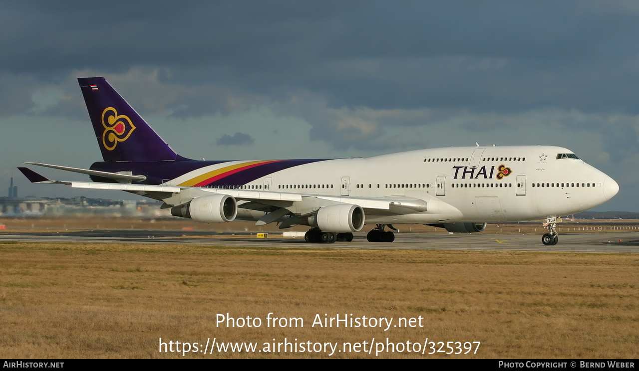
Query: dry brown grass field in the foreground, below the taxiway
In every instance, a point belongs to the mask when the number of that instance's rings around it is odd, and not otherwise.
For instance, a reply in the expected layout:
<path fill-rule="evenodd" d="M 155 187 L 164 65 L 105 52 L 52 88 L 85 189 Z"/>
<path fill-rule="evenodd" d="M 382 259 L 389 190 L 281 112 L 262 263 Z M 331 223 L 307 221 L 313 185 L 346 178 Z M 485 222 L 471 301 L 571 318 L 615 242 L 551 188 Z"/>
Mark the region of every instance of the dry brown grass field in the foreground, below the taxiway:
<path fill-rule="evenodd" d="M 187 245 L 0 245 L 5 358 L 181 358 L 164 341 L 481 341 L 466 356 L 635 358 L 633 254 Z M 216 315 L 302 317 L 304 328 L 217 328 Z M 312 328 L 314 315 L 424 317 L 423 328 Z M 325 358 L 193 353 L 187 358 Z M 332 358 L 370 358 L 337 353 Z"/>

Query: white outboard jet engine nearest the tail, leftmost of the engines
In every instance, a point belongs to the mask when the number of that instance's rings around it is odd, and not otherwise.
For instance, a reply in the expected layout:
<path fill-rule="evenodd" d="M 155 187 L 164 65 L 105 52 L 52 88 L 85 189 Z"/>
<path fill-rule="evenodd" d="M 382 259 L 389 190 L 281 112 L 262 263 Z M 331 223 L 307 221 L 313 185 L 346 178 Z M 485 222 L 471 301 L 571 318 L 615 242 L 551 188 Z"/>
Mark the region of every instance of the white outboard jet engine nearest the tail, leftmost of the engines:
<path fill-rule="evenodd" d="M 238 204 L 229 195 L 199 196 L 186 204 L 171 208 L 171 215 L 203 223 L 232 222 L 237 213 Z"/>

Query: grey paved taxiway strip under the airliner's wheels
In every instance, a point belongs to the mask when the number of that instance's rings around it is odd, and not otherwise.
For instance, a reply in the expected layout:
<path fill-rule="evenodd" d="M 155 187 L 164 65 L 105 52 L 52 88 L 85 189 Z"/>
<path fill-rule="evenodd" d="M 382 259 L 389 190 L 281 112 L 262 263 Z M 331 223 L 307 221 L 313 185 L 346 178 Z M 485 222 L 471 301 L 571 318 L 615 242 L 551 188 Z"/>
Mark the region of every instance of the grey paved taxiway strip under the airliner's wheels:
<path fill-rule="evenodd" d="M 284 238 L 270 234 L 256 238 L 255 234 L 184 235 L 182 231 L 80 231 L 40 234 L 0 234 L 0 241 L 30 241 L 47 243 L 166 243 L 217 246 L 268 246 L 306 248 L 409 248 L 436 250 L 512 250 L 555 252 L 617 252 L 639 253 L 639 232 L 567 233 L 560 234 L 559 243 L 545 246 L 541 234 L 435 234 L 398 233 L 392 243 L 370 243 L 366 234 L 355 234 L 351 242 L 306 243 L 304 238 Z M 621 240 L 621 241 L 619 241 Z"/>

